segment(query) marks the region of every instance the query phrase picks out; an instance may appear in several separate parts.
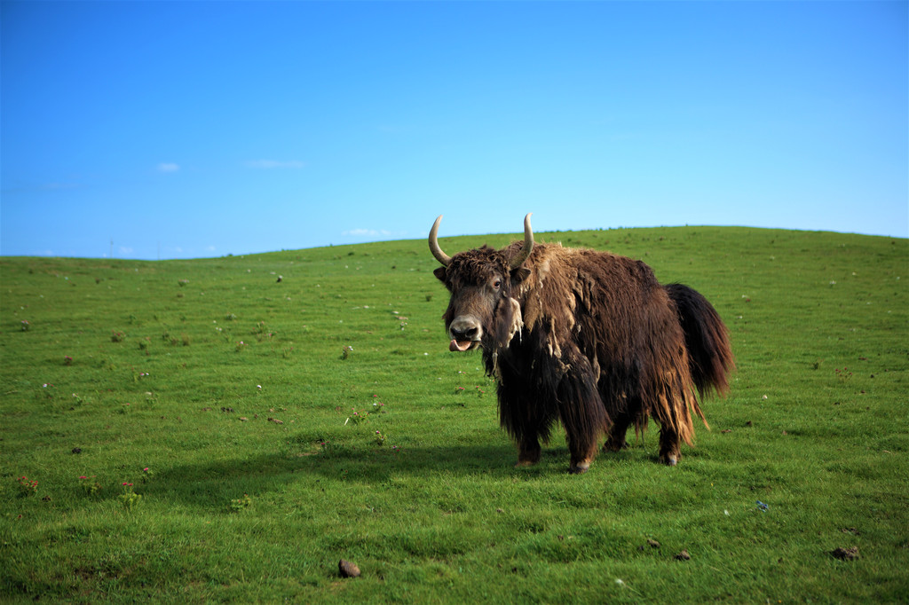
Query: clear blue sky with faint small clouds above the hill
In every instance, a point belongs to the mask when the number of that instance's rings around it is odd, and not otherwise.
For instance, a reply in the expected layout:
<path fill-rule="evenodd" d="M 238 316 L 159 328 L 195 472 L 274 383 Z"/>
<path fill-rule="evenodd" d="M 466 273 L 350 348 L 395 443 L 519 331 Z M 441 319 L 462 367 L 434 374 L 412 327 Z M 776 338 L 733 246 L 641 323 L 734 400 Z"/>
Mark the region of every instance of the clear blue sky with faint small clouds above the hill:
<path fill-rule="evenodd" d="M 906 2 L 2 2 L 0 254 L 909 236 Z M 113 241 L 113 245 L 111 242 Z"/>

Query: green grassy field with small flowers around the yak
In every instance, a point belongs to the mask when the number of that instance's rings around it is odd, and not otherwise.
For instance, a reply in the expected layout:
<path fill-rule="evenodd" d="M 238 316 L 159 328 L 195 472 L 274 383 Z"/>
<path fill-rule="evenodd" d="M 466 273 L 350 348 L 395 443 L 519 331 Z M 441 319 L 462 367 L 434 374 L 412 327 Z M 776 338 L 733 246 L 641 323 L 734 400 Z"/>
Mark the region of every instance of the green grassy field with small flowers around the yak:
<path fill-rule="evenodd" d="M 732 393 L 678 467 L 652 426 L 581 476 L 561 436 L 512 468 L 422 240 L 0 259 L 0 600 L 909 600 L 909 242 L 537 239 L 641 258 L 724 317 Z"/>

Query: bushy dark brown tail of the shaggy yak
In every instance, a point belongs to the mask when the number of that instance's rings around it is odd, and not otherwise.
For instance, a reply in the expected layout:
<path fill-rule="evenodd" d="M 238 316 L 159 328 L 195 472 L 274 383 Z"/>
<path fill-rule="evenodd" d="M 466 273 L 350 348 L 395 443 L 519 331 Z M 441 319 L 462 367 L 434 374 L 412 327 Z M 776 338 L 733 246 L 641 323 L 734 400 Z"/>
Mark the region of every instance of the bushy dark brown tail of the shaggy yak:
<path fill-rule="evenodd" d="M 714 391 L 725 395 L 729 392 L 727 375 L 735 369 L 735 360 L 723 320 L 704 295 L 694 289 L 681 283 L 664 288 L 675 303 L 684 330 L 689 372 L 701 399 Z"/>

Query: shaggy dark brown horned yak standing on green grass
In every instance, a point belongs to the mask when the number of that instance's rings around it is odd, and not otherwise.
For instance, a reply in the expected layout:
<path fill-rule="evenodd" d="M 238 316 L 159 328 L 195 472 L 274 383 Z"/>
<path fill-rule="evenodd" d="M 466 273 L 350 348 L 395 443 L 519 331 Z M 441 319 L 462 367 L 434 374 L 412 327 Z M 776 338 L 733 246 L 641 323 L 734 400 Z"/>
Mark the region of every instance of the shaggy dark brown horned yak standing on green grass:
<path fill-rule="evenodd" d="M 554 422 L 567 435 L 568 471 L 627 447 L 625 433 L 660 424 L 659 460 L 674 465 L 692 444 L 701 397 L 729 389 L 729 335 L 714 307 L 679 283 L 661 285 L 641 261 L 536 243 L 530 214 L 524 242 L 448 256 L 429 248 L 435 276 L 451 293 L 445 328 L 451 351 L 483 348 L 498 382 L 499 421 L 517 443 L 517 466 L 540 460 Z M 708 427 L 709 428 L 709 427 Z"/>

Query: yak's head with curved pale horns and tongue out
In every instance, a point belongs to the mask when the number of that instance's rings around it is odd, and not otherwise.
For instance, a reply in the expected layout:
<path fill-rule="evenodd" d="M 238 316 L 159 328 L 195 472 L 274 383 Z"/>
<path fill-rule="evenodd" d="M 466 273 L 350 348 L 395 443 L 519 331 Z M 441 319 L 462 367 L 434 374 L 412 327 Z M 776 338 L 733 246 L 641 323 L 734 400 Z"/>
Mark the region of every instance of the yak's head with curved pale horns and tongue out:
<path fill-rule="evenodd" d="M 524 243 L 515 242 L 502 250 L 474 248 L 449 256 L 439 247 L 437 233 L 442 216 L 429 232 L 429 249 L 442 266 L 435 270 L 451 300 L 443 315 L 451 338 L 451 351 L 468 351 L 479 346 L 487 350 L 506 348 L 524 325 L 521 305 L 514 298 L 517 285 L 530 270 L 524 262 L 534 248 L 530 214 L 524 217 Z"/>

